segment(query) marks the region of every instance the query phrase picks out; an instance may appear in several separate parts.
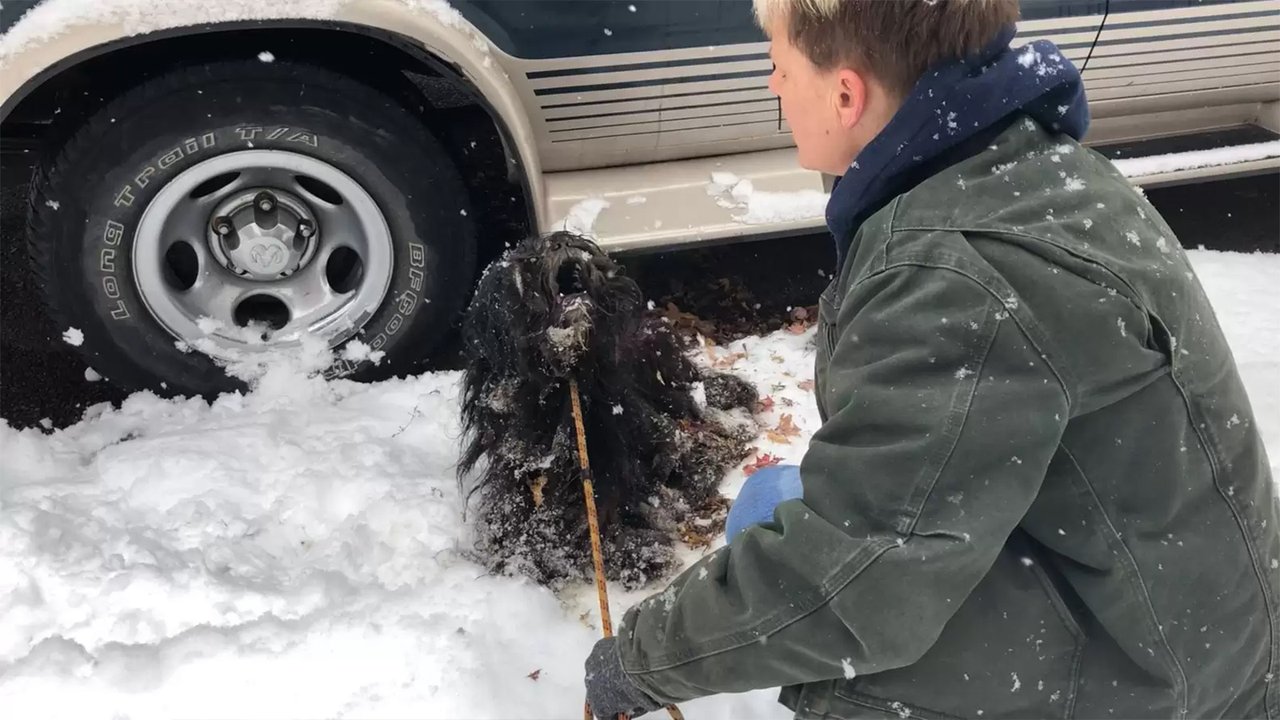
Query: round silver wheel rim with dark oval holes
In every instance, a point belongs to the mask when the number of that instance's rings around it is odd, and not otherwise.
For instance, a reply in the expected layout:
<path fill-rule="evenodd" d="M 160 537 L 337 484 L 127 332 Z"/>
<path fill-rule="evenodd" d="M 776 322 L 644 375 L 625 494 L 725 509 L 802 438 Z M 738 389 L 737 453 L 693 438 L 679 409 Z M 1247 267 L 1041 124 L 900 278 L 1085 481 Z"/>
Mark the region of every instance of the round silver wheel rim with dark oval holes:
<path fill-rule="evenodd" d="M 355 336 L 390 287 L 390 228 L 333 165 L 283 150 L 205 160 L 142 213 L 133 277 L 174 338 L 218 357 Z"/>

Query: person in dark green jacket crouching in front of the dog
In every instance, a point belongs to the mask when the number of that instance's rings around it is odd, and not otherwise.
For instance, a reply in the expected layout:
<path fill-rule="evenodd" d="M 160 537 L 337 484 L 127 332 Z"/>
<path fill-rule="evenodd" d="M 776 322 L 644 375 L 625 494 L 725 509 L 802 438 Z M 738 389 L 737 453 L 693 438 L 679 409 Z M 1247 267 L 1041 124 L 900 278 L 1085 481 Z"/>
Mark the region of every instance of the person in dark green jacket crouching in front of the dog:
<path fill-rule="evenodd" d="M 1010 47 L 1018 13 L 756 0 L 800 163 L 841 176 L 823 425 L 799 496 L 594 648 L 596 716 L 781 687 L 814 719 L 1280 717 L 1249 400 L 1178 238 L 1080 145 L 1076 69 Z"/>

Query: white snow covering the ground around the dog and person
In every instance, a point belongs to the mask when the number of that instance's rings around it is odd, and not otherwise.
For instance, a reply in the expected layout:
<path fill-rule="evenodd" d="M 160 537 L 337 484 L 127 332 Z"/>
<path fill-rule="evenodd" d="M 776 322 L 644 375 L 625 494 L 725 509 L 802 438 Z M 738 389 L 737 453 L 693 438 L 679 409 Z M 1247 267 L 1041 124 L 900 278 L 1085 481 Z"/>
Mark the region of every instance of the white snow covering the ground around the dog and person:
<path fill-rule="evenodd" d="M 1280 256 L 1193 261 L 1280 473 Z M 818 427 L 812 338 L 705 357 L 772 398 L 759 451 L 783 462 Z M 557 597 L 466 557 L 457 380 L 284 365 L 211 405 L 140 393 L 54 433 L 0 423 L 3 716 L 581 717 L 594 591 Z M 616 616 L 644 594 L 612 588 Z M 788 717 L 776 694 L 682 708 Z"/>

